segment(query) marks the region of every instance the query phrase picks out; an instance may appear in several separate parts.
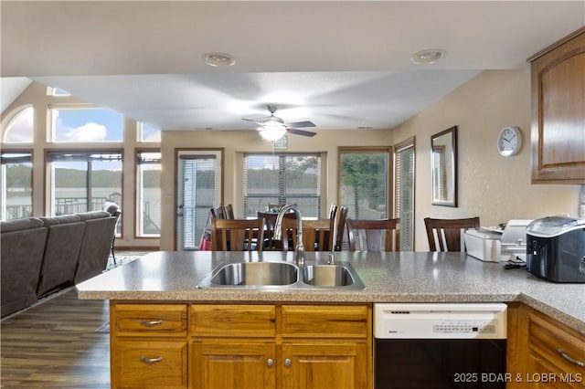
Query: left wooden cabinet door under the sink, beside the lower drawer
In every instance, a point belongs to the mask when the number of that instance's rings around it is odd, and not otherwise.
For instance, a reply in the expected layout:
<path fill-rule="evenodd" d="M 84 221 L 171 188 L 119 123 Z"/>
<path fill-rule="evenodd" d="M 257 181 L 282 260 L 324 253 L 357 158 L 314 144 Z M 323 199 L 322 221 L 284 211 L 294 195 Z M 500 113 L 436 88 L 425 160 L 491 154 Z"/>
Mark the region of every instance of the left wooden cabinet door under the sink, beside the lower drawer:
<path fill-rule="evenodd" d="M 275 388 L 274 350 L 274 342 L 193 342 L 192 386 L 197 389 Z"/>

